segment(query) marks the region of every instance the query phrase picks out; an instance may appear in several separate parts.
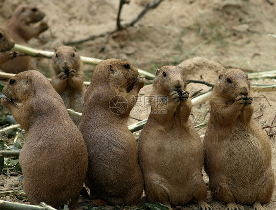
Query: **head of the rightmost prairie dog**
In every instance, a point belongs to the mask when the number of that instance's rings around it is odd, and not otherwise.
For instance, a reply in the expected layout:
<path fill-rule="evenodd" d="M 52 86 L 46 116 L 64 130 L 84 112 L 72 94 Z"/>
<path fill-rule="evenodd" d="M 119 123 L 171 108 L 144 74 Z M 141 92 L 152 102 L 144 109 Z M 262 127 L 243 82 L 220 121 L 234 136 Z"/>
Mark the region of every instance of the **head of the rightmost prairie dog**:
<path fill-rule="evenodd" d="M 240 69 L 226 69 L 219 75 L 214 91 L 231 101 L 238 95 L 247 96 L 250 91 L 248 75 Z"/>

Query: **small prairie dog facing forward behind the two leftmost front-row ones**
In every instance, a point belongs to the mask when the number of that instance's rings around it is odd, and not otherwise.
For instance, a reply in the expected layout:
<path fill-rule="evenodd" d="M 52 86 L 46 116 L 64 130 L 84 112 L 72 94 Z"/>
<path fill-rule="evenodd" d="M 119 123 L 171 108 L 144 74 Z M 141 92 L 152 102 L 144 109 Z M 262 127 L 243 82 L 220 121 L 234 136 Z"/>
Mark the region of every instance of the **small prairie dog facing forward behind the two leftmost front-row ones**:
<path fill-rule="evenodd" d="M 83 84 L 83 63 L 74 47 L 55 48 L 52 57 L 52 85 L 63 99 L 66 108 L 83 112 L 85 86 Z M 81 117 L 70 115 L 78 126 Z"/>

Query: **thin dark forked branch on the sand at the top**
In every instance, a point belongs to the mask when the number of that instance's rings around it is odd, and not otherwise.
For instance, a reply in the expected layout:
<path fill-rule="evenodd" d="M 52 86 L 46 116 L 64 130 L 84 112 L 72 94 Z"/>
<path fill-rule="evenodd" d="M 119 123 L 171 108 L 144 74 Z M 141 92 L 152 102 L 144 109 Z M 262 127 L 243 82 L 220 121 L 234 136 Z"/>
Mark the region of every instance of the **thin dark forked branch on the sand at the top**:
<path fill-rule="evenodd" d="M 148 3 L 147 6 L 143 9 L 143 11 L 135 19 L 133 19 L 130 23 L 124 24 L 123 26 L 120 23 L 121 9 L 122 9 L 122 5 L 124 4 L 123 3 L 121 5 L 122 1 L 127 2 L 128 0 L 121 0 L 120 1 L 119 12 L 118 12 L 118 17 L 117 17 L 117 28 L 115 30 L 104 32 L 104 33 L 101 33 L 99 35 L 92 35 L 92 36 L 90 36 L 90 37 L 88 37 L 86 39 L 73 40 L 73 41 L 65 42 L 63 44 L 64 45 L 80 44 L 80 43 L 83 43 L 83 42 L 94 40 L 95 38 L 98 38 L 98 37 L 104 37 L 107 34 L 111 35 L 111 34 L 117 32 L 117 31 L 120 31 L 120 30 L 126 29 L 128 27 L 134 26 L 134 24 L 136 22 L 138 22 L 138 20 L 140 20 L 150 9 L 156 8 L 163 0 L 154 0 L 154 1 L 150 2 L 150 3 Z"/>

